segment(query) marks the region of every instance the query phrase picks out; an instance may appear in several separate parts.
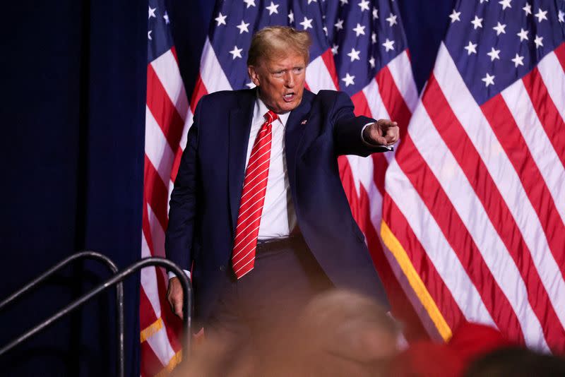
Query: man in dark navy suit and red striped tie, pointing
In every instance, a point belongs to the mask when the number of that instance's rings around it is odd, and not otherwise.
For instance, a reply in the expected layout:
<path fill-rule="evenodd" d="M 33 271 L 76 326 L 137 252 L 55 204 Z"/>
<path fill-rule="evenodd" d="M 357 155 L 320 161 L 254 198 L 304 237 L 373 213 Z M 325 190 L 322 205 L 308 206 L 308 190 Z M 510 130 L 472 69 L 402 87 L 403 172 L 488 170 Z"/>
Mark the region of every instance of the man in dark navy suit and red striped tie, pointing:
<path fill-rule="evenodd" d="M 343 92 L 305 90 L 310 43 L 292 28 L 257 32 L 247 61 L 256 88 L 215 92 L 196 107 L 165 249 L 192 271 L 207 336 L 256 340 L 333 286 L 386 305 L 336 158 L 391 150 L 398 126 L 355 116 Z M 176 277 L 167 299 L 182 316 Z"/>

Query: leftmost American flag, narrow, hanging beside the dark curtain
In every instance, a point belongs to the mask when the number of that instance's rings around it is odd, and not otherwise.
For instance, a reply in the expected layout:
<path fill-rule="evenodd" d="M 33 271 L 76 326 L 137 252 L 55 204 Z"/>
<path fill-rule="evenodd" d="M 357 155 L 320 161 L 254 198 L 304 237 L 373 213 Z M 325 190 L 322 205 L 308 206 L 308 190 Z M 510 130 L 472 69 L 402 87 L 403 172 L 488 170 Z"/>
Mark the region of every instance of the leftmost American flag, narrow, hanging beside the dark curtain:
<path fill-rule="evenodd" d="M 165 256 L 167 203 L 191 119 L 165 0 L 148 1 L 147 106 L 141 256 Z M 141 270 L 141 376 L 165 375 L 180 360 L 179 320 L 160 268 Z"/>

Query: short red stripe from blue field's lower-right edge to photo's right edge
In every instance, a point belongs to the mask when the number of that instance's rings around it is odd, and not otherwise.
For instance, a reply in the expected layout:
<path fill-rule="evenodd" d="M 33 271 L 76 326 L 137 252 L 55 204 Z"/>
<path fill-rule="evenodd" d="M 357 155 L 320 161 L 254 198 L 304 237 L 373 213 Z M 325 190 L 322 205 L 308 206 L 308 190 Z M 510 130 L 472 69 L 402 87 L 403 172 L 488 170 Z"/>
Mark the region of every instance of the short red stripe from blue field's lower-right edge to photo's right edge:
<path fill-rule="evenodd" d="M 557 152 L 561 164 L 565 167 L 565 123 L 561 119 L 561 114 L 555 107 L 552 97 L 547 92 L 540 71 L 535 67 L 522 80 L 525 90 L 528 91 L 530 100 L 532 100 L 535 113 L 540 119 L 555 152 Z"/>

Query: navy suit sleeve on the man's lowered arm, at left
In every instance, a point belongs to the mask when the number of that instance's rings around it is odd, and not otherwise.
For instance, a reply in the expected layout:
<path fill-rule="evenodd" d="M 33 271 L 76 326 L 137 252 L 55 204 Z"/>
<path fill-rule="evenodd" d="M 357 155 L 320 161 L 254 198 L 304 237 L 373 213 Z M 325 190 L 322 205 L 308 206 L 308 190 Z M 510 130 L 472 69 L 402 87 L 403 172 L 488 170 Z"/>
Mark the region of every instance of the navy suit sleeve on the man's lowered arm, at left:
<path fill-rule="evenodd" d="M 179 172 L 169 202 L 169 225 L 165 233 L 167 259 L 184 270 L 191 270 L 195 219 L 198 211 L 198 126 L 203 99 L 198 102 L 194 123 L 189 129 Z"/>

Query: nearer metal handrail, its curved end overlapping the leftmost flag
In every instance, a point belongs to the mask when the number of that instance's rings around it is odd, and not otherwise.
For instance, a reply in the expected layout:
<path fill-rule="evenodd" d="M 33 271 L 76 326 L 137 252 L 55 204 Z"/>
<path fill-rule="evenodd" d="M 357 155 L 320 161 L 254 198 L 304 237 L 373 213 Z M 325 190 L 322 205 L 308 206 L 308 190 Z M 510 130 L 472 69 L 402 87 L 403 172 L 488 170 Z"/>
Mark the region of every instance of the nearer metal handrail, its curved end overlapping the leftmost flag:
<path fill-rule="evenodd" d="M 184 344 L 182 359 L 183 360 L 189 359 L 189 352 L 190 352 L 190 349 L 191 349 L 190 330 L 191 330 L 191 317 L 192 317 L 192 315 L 191 315 L 192 313 L 189 312 L 189 310 L 191 310 L 191 308 L 192 308 L 192 288 L 189 284 L 189 278 L 186 276 L 184 271 L 181 270 L 177 265 L 175 265 L 171 261 L 167 261 L 167 259 L 165 259 L 165 258 L 158 258 L 158 257 L 144 258 L 141 261 L 133 263 L 132 265 L 129 265 L 129 267 L 124 268 L 124 270 L 122 270 L 120 273 L 117 273 L 116 275 L 114 275 L 113 277 L 110 277 L 105 282 L 102 282 L 102 284 L 98 285 L 97 287 L 92 289 L 87 294 L 83 294 L 83 296 L 81 296 L 80 298 L 71 302 L 71 304 L 65 306 L 63 309 L 61 309 L 59 312 L 55 313 L 53 316 L 47 318 L 47 320 L 43 321 L 39 325 L 36 325 L 34 328 L 28 330 L 27 332 L 23 333 L 22 335 L 20 335 L 16 339 L 14 339 L 12 342 L 8 343 L 8 345 L 2 347 L 0 349 L 0 356 L 2 354 L 5 354 L 6 352 L 8 352 L 13 347 L 16 347 L 21 342 L 27 340 L 32 335 L 35 335 L 36 333 L 40 332 L 41 330 L 43 330 L 44 328 L 46 328 L 50 324 L 54 323 L 54 321 L 57 321 L 59 318 L 65 316 L 66 314 L 70 313 L 74 309 L 78 308 L 78 306 L 81 306 L 86 301 L 92 299 L 93 297 L 95 297 L 100 292 L 104 291 L 105 289 L 107 289 L 109 287 L 112 287 L 112 285 L 120 284 L 120 282 L 122 280 L 124 280 L 126 277 L 135 273 L 138 270 L 141 270 L 141 268 L 144 268 L 148 265 L 158 265 L 160 267 L 167 268 L 167 270 L 172 271 L 172 273 L 174 273 L 174 275 L 177 275 L 177 277 L 179 278 L 179 280 L 181 282 L 182 292 L 183 292 L 183 301 L 182 301 L 182 313 L 183 313 L 183 318 L 182 318 L 182 325 L 183 325 L 182 335 L 183 336 L 182 337 L 183 337 L 183 339 L 182 339 L 182 343 Z M 123 340 L 123 335 L 122 335 L 122 340 Z M 122 371 L 124 370 L 123 361 L 124 360 L 122 360 L 122 365 L 121 365 Z"/>

